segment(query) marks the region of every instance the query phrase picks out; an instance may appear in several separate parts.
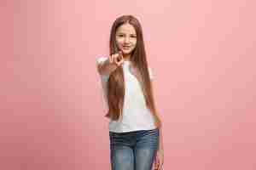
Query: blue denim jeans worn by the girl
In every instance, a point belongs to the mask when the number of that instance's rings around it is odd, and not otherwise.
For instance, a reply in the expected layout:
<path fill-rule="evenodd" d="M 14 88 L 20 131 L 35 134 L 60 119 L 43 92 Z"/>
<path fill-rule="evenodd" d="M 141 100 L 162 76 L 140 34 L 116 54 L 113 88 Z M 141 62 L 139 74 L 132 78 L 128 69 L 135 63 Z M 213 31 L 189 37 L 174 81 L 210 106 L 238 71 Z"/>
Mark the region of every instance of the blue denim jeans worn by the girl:
<path fill-rule="evenodd" d="M 159 148 L 159 129 L 109 132 L 112 170 L 151 170 Z"/>

